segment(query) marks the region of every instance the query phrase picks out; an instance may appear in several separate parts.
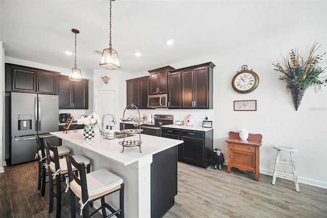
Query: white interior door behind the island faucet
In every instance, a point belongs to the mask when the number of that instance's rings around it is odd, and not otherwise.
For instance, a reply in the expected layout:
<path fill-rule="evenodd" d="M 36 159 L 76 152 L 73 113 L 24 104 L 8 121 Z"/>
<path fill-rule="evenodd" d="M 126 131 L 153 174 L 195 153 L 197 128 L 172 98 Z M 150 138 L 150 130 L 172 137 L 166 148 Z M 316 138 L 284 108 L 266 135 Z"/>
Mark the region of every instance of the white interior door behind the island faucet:
<path fill-rule="evenodd" d="M 115 91 L 109 90 L 96 90 L 96 113 L 102 118 L 106 113 L 112 114 L 115 118 Z M 119 122 L 119 119 L 117 119 Z M 106 116 L 104 119 L 104 127 L 106 125 L 115 126 L 112 122 L 111 116 Z M 119 123 L 118 123 L 119 125 Z M 100 126 L 101 127 L 101 126 Z M 115 126 L 113 129 L 119 129 L 119 126 Z"/>

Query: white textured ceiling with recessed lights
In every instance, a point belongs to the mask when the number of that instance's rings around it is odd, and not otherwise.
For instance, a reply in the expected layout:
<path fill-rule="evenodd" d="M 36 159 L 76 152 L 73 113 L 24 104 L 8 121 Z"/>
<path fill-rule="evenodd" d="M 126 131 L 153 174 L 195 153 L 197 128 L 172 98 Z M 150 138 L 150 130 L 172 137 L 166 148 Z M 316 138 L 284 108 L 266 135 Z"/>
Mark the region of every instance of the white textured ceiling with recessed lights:
<path fill-rule="evenodd" d="M 6 56 L 70 69 L 74 28 L 80 31 L 77 67 L 82 73 L 104 69 L 99 62 L 109 47 L 109 0 L 1 0 L 0 12 Z M 326 25 L 326 14 L 327 1 L 116 0 L 112 48 L 122 71 L 146 72 Z M 168 39 L 174 40 L 172 46 Z"/>

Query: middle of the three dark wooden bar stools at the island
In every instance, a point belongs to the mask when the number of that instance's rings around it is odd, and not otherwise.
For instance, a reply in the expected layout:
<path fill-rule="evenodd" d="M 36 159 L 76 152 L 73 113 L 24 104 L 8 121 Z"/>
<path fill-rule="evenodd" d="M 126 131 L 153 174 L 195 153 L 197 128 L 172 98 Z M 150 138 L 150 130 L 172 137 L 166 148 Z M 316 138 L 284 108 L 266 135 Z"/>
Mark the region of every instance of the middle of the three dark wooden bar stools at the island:
<path fill-rule="evenodd" d="M 45 142 L 45 150 L 46 150 L 46 157 L 48 160 L 48 167 L 49 167 L 49 192 L 50 192 L 50 199 L 49 199 L 49 213 L 52 212 L 53 209 L 53 198 L 56 197 L 57 199 L 57 213 L 56 217 L 61 217 L 61 206 L 71 203 L 68 201 L 66 203 L 61 204 L 61 194 L 64 191 L 61 191 L 61 178 L 67 177 L 68 170 L 67 170 L 67 161 L 66 158 L 59 158 L 58 155 L 58 147 L 52 146 L 48 141 Z M 53 156 L 50 155 L 50 151 L 53 152 Z M 80 156 L 74 155 L 73 156 L 79 163 L 83 163 L 87 173 L 90 172 L 90 160 Z M 72 168 L 72 166 L 71 166 Z M 84 168 L 84 173 L 85 173 Z M 74 167 L 74 171 L 77 169 Z M 54 184 L 54 179 L 56 180 L 56 184 Z M 56 192 L 54 191 L 54 185 L 56 186 Z M 73 204 L 72 204 L 73 205 Z M 74 204 L 75 205 L 75 204 Z"/>

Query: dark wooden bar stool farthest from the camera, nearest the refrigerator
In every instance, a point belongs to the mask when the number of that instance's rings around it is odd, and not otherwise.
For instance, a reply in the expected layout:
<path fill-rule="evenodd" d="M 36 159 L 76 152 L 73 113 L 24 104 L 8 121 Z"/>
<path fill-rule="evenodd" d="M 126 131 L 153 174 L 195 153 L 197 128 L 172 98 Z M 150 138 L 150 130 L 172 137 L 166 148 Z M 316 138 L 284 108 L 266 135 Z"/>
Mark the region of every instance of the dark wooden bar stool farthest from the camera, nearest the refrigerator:
<path fill-rule="evenodd" d="M 46 172 L 46 168 L 44 167 L 45 159 L 46 159 L 46 151 L 44 147 L 44 140 L 42 137 L 39 137 L 39 135 L 35 134 L 36 138 L 36 146 L 37 146 L 37 153 L 35 154 L 35 159 L 38 159 L 38 183 L 37 183 L 37 189 L 41 189 L 41 196 L 44 196 L 45 192 L 45 183 L 46 182 L 46 176 L 48 176 L 48 172 Z M 66 154 L 69 154 L 71 150 L 65 146 L 58 146 L 58 156 L 64 157 Z M 53 152 L 50 152 L 50 155 L 53 156 Z"/>

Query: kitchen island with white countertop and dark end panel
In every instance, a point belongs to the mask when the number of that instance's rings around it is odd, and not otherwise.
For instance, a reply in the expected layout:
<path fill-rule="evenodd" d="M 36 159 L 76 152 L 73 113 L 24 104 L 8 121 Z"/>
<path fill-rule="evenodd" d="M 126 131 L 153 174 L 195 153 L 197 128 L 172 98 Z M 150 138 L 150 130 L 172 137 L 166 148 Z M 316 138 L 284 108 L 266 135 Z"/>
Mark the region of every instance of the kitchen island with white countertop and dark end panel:
<path fill-rule="evenodd" d="M 123 147 L 119 142 L 123 139 L 103 139 L 96 134 L 85 140 L 82 130 L 50 134 L 62 139 L 62 144 L 71 149 L 72 155 L 90 159 L 91 171 L 104 168 L 123 178 L 125 217 L 161 216 L 173 206 L 177 194 L 177 145 L 183 141 L 141 135 L 142 152 L 138 146 L 125 147 L 121 152 Z M 139 140 L 139 135 L 125 140 Z M 159 198 L 166 201 L 166 206 L 163 207 Z M 110 194 L 108 200 L 114 207 L 119 207 L 119 193 Z M 96 202 L 95 207 L 98 205 Z"/>

